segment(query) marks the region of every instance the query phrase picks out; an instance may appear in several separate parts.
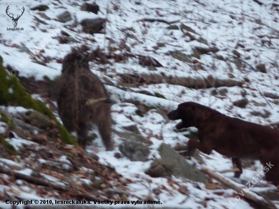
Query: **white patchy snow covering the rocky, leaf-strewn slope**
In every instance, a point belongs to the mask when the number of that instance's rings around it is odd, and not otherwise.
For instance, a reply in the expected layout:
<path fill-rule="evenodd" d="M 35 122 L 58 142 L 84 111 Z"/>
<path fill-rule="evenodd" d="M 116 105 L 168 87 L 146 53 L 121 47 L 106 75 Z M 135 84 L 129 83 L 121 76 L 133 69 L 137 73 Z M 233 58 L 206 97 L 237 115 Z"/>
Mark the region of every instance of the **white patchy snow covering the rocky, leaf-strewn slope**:
<path fill-rule="evenodd" d="M 91 1 L 90 1 L 91 2 Z M 143 84 L 138 87 L 132 87 L 129 90 L 121 90 L 114 86 L 107 86 L 107 89 L 113 96 L 120 100 L 133 99 L 145 103 L 150 107 L 165 107 L 166 110 L 176 109 L 177 105 L 184 101 L 194 101 L 202 105 L 209 106 L 233 117 L 267 125 L 277 122 L 279 118 L 278 106 L 278 89 L 279 89 L 279 69 L 278 69 L 278 17 L 279 14 L 272 7 L 273 1 L 264 1 L 264 5 L 260 6 L 254 1 L 186 1 L 186 0 L 141 0 L 141 1 L 95 1 L 100 6 L 99 17 L 108 18 L 104 34 L 96 33 L 87 34 L 82 32 L 80 25 L 72 27 L 77 21 L 84 18 L 96 18 L 97 15 L 80 11 L 83 2 L 73 1 L 34 1 L 31 6 L 24 6 L 25 13 L 18 21 L 18 27 L 23 27 L 23 31 L 6 30 L 12 27 L 11 19 L 5 12 L 0 14 L 1 25 L 3 30 L 0 34 L 0 55 L 4 59 L 4 65 L 10 65 L 14 69 L 20 69 L 19 75 L 22 77 L 33 76 L 40 80 L 47 76 L 51 79 L 60 75 L 61 60 L 71 47 L 86 44 L 92 49 L 100 47 L 105 52 L 109 48 L 115 48 L 120 53 L 119 46 L 125 44 L 127 48 L 134 54 L 149 55 L 158 60 L 164 67 L 157 67 L 157 71 L 149 71 L 147 67 L 143 67 L 136 63 L 136 60 L 129 58 L 125 63 L 103 64 L 106 73 L 100 72 L 100 65 L 91 63 L 92 72 L 96 73 L 100 78 L 109 78 L 112 83 L 119 81 L 121 74 L 147 74 L 147 75 L 164 75 L 166 77 L 192 77 L 192 78 L 208 78 L 212 76 L 218 79 L 233 78 L 243 81 L 242 87 L 230 87 L 228 91 L 221 94 L 214 94 L 215 88 L 192 89 L 180 85 L 170 85 L 166 83 L 160 84 Z M 262 1 L 263 2 L 263 1 Z M 45 4 L 50 7 L 44 13 L 50 20 L 43 19 L 38 11 L 30 10 L 35 5 Z M 1 11 L 6 6 L 1 5 Z M 22 6 L 11 6 L 11 12 L 17 13 Z M 73 20 L 61 23 L 56 20 L 57 14 L 69 11 L 74 17 Z M 40 24 L 34 17 L 40 18 L 47 24 Z M 168 24 L 163 22 L 142 21 L 144 18 L 163 19 L 165 21 L 173 21 L 173 25 L 181 25 L 182 23 L 191 27 L 195 32 L 191 33 L 196 38 L 190 41 L 183 29 L 168 29 Z M 177 21 L 177 22 L 176 22 Z M 57 37 L 61 36 L 60 31 L 66 31 L 72 36 L 77 43 L 59 44 Z M 51 37 L 50 34 L 53 34 Z M 46 42 L 45 40 L 48 40 Z M 90 41 L 93 40 L 94 42 Z M 113 40 L 109 41 L 109 40 Z M 204 54 L 195 59 L 201 64 L 201 68 L 193 67 L 192 63 L 183 62 L 168 55 L 169 52 L 180 51 L 186 55 L 192 54 L 193 47 L 206 47 L 204 41 L 211 47 L 218 47 L 215 55 Z M 42 42 L 45 42 L 43 44 Z M 162 43 L 163 47 L 158 47 Z M 45 45 L 45 46 L 44 46 Z M 44 47 L 42 47 L 44 46 Z M 24 47 L 36 54 L 36 60 L 44 62 L 46 58 L 50 58 L 46 62 L 46 66 L 34 63 L 34 60 L 28 61 L 26 64 L 24 59 L 28 56 L 24 51 Z M 36 53 L 36 49 L 40 49 Z M 249 63 L 241 65 L 239 69 L 235 63 L 229 60 L 233 59 L 232 50 L 236 49 L 241 54 L 241 59 Z M 214 57 L 223 57 L 216 59 Z M 267 74 L 255 72 L 255 66 L 259 63 L 266 65 Z M 19 65 L 23 64 L 20 68 Z M 244 66 L 246 65 L 246 66 Z M 219 90 L 224 87 L 218 88 Z M 160 93 L 166 99 L 156 98 L 141 93 L 138 90 L 146 90 L 150 93 Z M 265 93 L 275 95 L 274 98 L 263 96 Z M 233 102 L 244 97 L 249 100 L 245 109 L 238 108 Z M 277 96 L 277 97 L 276 97 Z M 17 111 L 19 108 L 17 108 Z M 175 146 L 178 142 L 187 140 L 181 133 L 173 130 L 176 122 L 166 121 L 161 114 L 155 109 L 150 110 L 143 117 L 135 114 L 137 108 L 131 103 L 117 103 L 112 108 L 112 116 L 116 121 L 114 129 L 117 130 L 122 126 L 136 124 L 137 128 L 144 136 L 149 136 L 153 142 L 151 146 L 152 152 L 147 162 L 131 162 L 123 157 L 116 159 L 114 153 L 118 151 L 106 152 L 102 146 L 100 137 L 94 141 L 100 147 L 97 154 L 99 161 L 103 164 L 109 164 L 116 168 L 125 178 L 130 178 L 133 183 L 128 185 L 130 193 L 138 198 L 150 193 L 153 189 L 161 189 L 163 191 L 157 196 L 153 196 L 154 200 L 160 199 L 162 205 L 159 206 L 176 206 L 181 208 L 202 208 L 202 200 L 207 200 L 206 208 L 234 208 L 229 202 L 234 201 L 233 191 L 230 189 L 222 190 L 223 195 L 214 194 L 211 190 L 205 189 L 203 184 L 191 183 L 184 179 L 172 177 L 171 181 L 176 182 L 180 186 L 187 188 L 188 195 L 179 192 L 176 186 L 169 186 L 165 178 L 151 178 L 145 174 L 145 169 L 150 165 L 151 159 L 158 157 L 157 148 L 161 143 Z M 9 107 L 8 112 L 13 113 L 14 107 Z M 22 109 L 22 111 L 25 111 Z M 266 114 L 267 117 L 261 117 L 260 114 Z M 0 132 L 4 132 L 4 128 L 0 123 Z M 151 134 L 152 133 L 152 134 Z M 151 136 L 150 136 L 151 135 Z M 158 138 L 155 136 L 162 136 Z M 114 135 L 116 144 L 122 142 L 116 134 Z M 18 136 L 7 140 L 9 143 L 19 149 L 23 144 L 36 145 L 30 143 Z M 92 149 L 91 146 L 87 148 Z M 205 165 L 216 171 L 229 169 L 232 167 L 231 160 L 213 152 L 210 156 L 202 155 Z M 5 161 L 0 159 L 1 161 Z M 65 156 L 60 161 L 67 162 Z M 10 162 L 6 162 L 9 163 Z M 67 165 L 67 164 L 65 164 Z M 244 169 L 240 179 L 249 181 L 253 176 L 262 169 L 260 163 L 256 163 L 256 170 Z M 27 170 L 25 170 L 27 172 Z M 4 175 L 5 176 L 5 175 Z M 232 177 L 232 173 L 225 173 L 224 176 Z M 53 179 L 50 181 L 54 181 Z M 86 181 L 86 180 L 85 180 Z M 3 189 L 0 185 L 0 189 Z M 162 189 L 163 188 L 163 189 Z M 26 189 L 26 193 L 19 195 L 21 198 L 40 199 L 41 197 L 32 194 L 31 190 Z M 131 200 L 136 200 L 135 197 Z M 1 203 L 0 206 L 7 207 Z M 155 205 L 155 207 L 158 205 Z M 251 206 L 240 200 L 236 204 L 237 208 L 251 208 Z M 135 206 L 136 207 L 136 206 Z"/>

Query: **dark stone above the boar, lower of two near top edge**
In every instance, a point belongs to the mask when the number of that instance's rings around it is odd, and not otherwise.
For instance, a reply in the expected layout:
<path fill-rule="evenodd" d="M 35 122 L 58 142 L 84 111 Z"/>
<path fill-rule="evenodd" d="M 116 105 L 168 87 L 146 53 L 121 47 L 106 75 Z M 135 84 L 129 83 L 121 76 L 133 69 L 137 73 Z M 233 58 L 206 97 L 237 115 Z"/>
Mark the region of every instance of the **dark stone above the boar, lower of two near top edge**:
<path fill-rule="evenodd" d="M 81 25 L 83 26 L 84 32 L 93 34 L 99 32 L 105 22 L 106 19 L 104 18 L 84 19 L 81 21 Z"/>

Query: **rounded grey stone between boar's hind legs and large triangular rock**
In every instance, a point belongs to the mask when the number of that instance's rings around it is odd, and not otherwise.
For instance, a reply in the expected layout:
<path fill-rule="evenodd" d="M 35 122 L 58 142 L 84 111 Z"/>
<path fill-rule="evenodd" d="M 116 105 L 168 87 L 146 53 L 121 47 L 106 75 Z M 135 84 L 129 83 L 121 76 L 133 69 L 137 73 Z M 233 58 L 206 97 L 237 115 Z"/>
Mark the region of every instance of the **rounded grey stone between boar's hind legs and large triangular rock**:
<path fill-rule="evenodd" d="M 119 145 L 119 151 L 131 161 L 147 161 L 149 148 L 141 142 L 127 140 Z"/>

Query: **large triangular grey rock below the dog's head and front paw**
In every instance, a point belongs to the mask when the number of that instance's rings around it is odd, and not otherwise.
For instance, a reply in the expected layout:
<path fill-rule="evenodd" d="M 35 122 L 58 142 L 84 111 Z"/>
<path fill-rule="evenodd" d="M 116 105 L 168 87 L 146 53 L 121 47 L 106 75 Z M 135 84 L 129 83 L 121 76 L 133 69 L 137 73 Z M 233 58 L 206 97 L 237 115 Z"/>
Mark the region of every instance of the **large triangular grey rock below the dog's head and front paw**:
<path fill-rule="evenodd" d="M 185 158 L 179 155 L 169 145 L 162 144 L 159 147 L 161 159 L 156 159 L 146 173 L 153 177 L 175 176 L 183 177 L 195 182 L 205 183 L 208 177 L 195 168 Z"/>

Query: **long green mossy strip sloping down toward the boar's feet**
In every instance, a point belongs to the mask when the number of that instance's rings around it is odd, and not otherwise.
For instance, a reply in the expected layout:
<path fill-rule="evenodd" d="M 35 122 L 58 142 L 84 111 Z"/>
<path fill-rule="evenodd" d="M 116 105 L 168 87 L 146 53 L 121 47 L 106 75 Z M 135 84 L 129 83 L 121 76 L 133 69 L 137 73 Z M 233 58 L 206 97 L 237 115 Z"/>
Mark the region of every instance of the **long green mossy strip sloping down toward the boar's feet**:
<path fill-rule="evenodd" d="M 20 84 L 16 77 L 12 78 L 8 75 L 3 67 L 3 59 L 1 56 L 0 105 L 21 106 L 26 109 L 33 109 L 43 113 L 56 122 L 60 137 L 65 144 L 77 145 L 75 138 L 58 122 L 52 111 L 42 101 L 34 100 L 30 94 L 26 93 L 25 88 Z"/>

